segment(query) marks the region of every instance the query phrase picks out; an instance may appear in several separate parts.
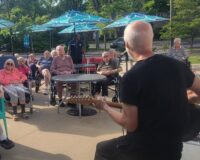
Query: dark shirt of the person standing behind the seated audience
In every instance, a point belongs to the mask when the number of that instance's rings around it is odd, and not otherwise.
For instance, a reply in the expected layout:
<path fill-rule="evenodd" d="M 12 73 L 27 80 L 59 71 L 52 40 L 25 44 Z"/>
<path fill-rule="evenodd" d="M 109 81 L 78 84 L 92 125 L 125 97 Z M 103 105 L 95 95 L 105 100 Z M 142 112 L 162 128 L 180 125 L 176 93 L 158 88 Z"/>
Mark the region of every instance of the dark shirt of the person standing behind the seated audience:
<path fill-rule="evenodd" d="M 82 60 L 83 43 L 81 41 L 71 40 L 69 42 L 69 50 L 73 62 Z"/>

